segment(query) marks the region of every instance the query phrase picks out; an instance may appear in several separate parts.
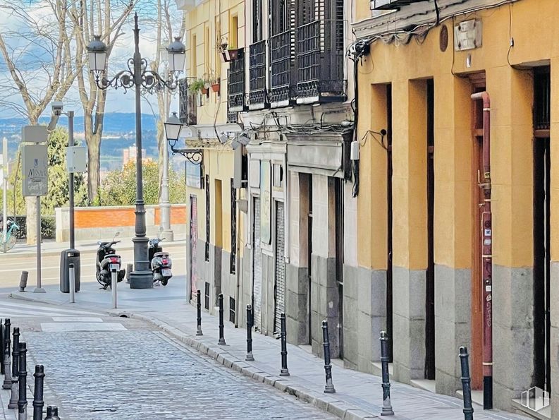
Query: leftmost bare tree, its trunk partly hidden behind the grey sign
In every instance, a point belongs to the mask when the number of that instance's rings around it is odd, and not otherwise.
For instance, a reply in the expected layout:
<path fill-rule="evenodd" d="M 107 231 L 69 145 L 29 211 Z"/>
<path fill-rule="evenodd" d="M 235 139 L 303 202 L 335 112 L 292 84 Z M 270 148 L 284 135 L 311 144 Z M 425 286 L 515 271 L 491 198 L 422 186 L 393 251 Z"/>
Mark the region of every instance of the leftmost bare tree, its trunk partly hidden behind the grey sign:
<path fill-rule="evenodd" d="M 68 24 L 67 2 L 2 0 L 0 13 L 9 21 L 0 32 L 0 52 L 9 74 L 0 82 L 1 100 L 4 107 L 35 125 L 52 100 L 62 100 L 78 73 L 71 44 L 75 28 Z M 50 130 L 56 121 L 51 117 Z M 27 243 L 33 244 L 35 199 L 27 198 L 26 207 Z"/>

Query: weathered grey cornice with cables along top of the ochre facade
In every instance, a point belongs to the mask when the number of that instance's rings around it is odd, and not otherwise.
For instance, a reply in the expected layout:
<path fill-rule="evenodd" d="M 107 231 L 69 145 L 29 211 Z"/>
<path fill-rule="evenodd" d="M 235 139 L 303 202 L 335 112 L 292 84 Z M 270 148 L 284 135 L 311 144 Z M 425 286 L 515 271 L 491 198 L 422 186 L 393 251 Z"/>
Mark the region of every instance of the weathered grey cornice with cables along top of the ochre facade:
<path fill-rule="evenodd" d="M 520 0 L 438 0 L 440 19 L 470 13 L 483 8 L 501 6 Z M 402 6 L 396 11 L 372 11 L 374 16 L 352 24 L 357 39 L 368 39 L 390 34 L 410 27 L 428 25 L 436 22 L 433 1 Z"/>

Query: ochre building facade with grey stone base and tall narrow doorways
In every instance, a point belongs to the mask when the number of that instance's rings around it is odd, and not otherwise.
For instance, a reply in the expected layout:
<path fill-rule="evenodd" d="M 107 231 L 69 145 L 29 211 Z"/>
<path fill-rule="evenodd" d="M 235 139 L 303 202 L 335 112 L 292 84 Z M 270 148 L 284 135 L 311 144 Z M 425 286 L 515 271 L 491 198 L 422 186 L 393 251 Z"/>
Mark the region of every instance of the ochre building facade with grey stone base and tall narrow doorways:
<path fill-rule="evenodd" d="M 557 3 L 362 3 L 357 254 L 386 275 L 395 379 L 454 395 L 467 346 L 494 407 L 537 386 L 555 418 Z"/>

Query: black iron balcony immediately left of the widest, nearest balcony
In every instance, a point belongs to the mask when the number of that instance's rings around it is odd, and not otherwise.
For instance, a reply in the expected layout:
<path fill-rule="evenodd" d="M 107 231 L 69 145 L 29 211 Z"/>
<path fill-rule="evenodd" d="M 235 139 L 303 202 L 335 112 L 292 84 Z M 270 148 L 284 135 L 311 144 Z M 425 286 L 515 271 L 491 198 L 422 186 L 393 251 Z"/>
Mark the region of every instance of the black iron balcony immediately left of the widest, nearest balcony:
<path fill-rule="evenodd" d="M 271 107 L 285 107 L 295 97 L 295 32 L 287 30 L 270 38 L 270 92 Z"/>

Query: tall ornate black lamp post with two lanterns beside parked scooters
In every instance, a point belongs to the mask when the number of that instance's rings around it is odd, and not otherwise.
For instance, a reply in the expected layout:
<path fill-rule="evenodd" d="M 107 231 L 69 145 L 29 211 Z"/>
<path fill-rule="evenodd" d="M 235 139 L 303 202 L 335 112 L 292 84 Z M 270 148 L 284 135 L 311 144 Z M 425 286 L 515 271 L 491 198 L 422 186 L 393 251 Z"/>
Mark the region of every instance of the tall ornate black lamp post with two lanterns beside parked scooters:
<path fill-rule="evenodd" d="M 142 90 L 153 92 L 168 88 L 176 89 L 178 85 L 178 73 L 183 71 L 185 65 L 185 46 L 180 38 L 167 47 L 169 71 L 171 78 L 164 80 L 156 71 L 148 70 L 146 59 L 140 54 L 140 29 L 137 25 L 137 13 L 134 15 L 134 56 L 128 59 L 128 70 L 121 71 L 110 80 L 103 76 L 106 68 L 106 45 L 98 35 L 87 46 L 89 52 L 90 68 L 95 83 L 100 89 L 123 88 L 128 90 L 135 88 L 136 100 L 136 203 L 135 203 L 135 237 L 134 243 L 134 270 L 130 273 L 130 289 L 149 289 L 153 287 L 152 271 L 149 270 L 149 258 L 147 253 L 144 191 L 142 186 Z M 167 76 L 167 75 L 166 75 Z"/>

